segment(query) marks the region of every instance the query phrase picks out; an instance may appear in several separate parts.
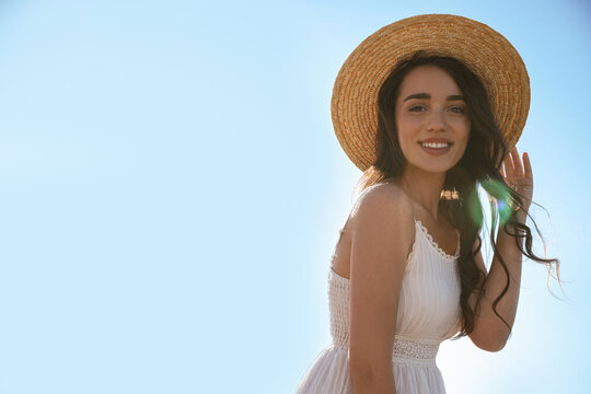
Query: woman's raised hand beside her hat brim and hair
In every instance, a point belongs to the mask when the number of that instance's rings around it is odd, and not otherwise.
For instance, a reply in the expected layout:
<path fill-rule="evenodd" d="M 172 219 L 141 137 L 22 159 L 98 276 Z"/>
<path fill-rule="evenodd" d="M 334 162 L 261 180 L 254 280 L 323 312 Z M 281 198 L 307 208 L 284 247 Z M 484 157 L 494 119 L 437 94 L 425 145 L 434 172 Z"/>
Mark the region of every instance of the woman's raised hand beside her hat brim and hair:
<path fill-rule="evenodd" d="M 513 147 L 511 153 L 505 159 L 500 173 L 509 187 L 522 196 L 523 209 L 528 211 L 533 197 L 533 172 L 530 155 L 526 152 L 523 153 L 522 165 L 518 149 Z"/>

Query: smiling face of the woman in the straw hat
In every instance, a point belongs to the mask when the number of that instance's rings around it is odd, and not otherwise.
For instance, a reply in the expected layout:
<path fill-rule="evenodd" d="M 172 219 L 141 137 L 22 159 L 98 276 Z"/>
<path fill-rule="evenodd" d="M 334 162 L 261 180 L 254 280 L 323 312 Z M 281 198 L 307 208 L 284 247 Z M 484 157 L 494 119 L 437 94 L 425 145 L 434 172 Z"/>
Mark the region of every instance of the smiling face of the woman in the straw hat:
<path fill-rule="evenodd" d="M 470 116 L 460 88 L 443 69 L 427 65 L 408 72 L 399 88 L 395 118 L 407 165 L 445 173 L 462 159 Z"/>

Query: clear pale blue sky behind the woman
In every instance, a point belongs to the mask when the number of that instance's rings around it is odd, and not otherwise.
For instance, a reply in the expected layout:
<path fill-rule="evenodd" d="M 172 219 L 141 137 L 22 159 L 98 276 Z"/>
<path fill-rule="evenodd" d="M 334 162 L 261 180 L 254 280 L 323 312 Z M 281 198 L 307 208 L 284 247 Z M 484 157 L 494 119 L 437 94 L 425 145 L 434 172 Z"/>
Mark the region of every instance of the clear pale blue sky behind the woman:
<path fill-rule="evenodd" d="M 506 348 L 441 345 L 448 392 L 587 393 L 588 1 L 20 0 L 0 3 L 0 394 L 292 393 L 331 340 L 361 175 L 332 128 L 335 77 L 421 13 L 522 55 L 518 149 L 568 297 L 524 262 Z"/>

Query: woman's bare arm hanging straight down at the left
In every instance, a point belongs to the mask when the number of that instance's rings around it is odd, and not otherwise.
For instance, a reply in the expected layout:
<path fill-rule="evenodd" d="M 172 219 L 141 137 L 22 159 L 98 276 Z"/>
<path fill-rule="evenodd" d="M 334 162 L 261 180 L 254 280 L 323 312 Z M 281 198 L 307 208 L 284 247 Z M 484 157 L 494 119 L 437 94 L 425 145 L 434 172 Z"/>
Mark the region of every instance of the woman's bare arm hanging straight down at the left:
<path fill-rule="evenodd" d="M 414 237 L 402 192 L 378 186 L 354 213 L 350 279 L 351 393 L 395 394 L 392 351 L 398 296 Z"/>

